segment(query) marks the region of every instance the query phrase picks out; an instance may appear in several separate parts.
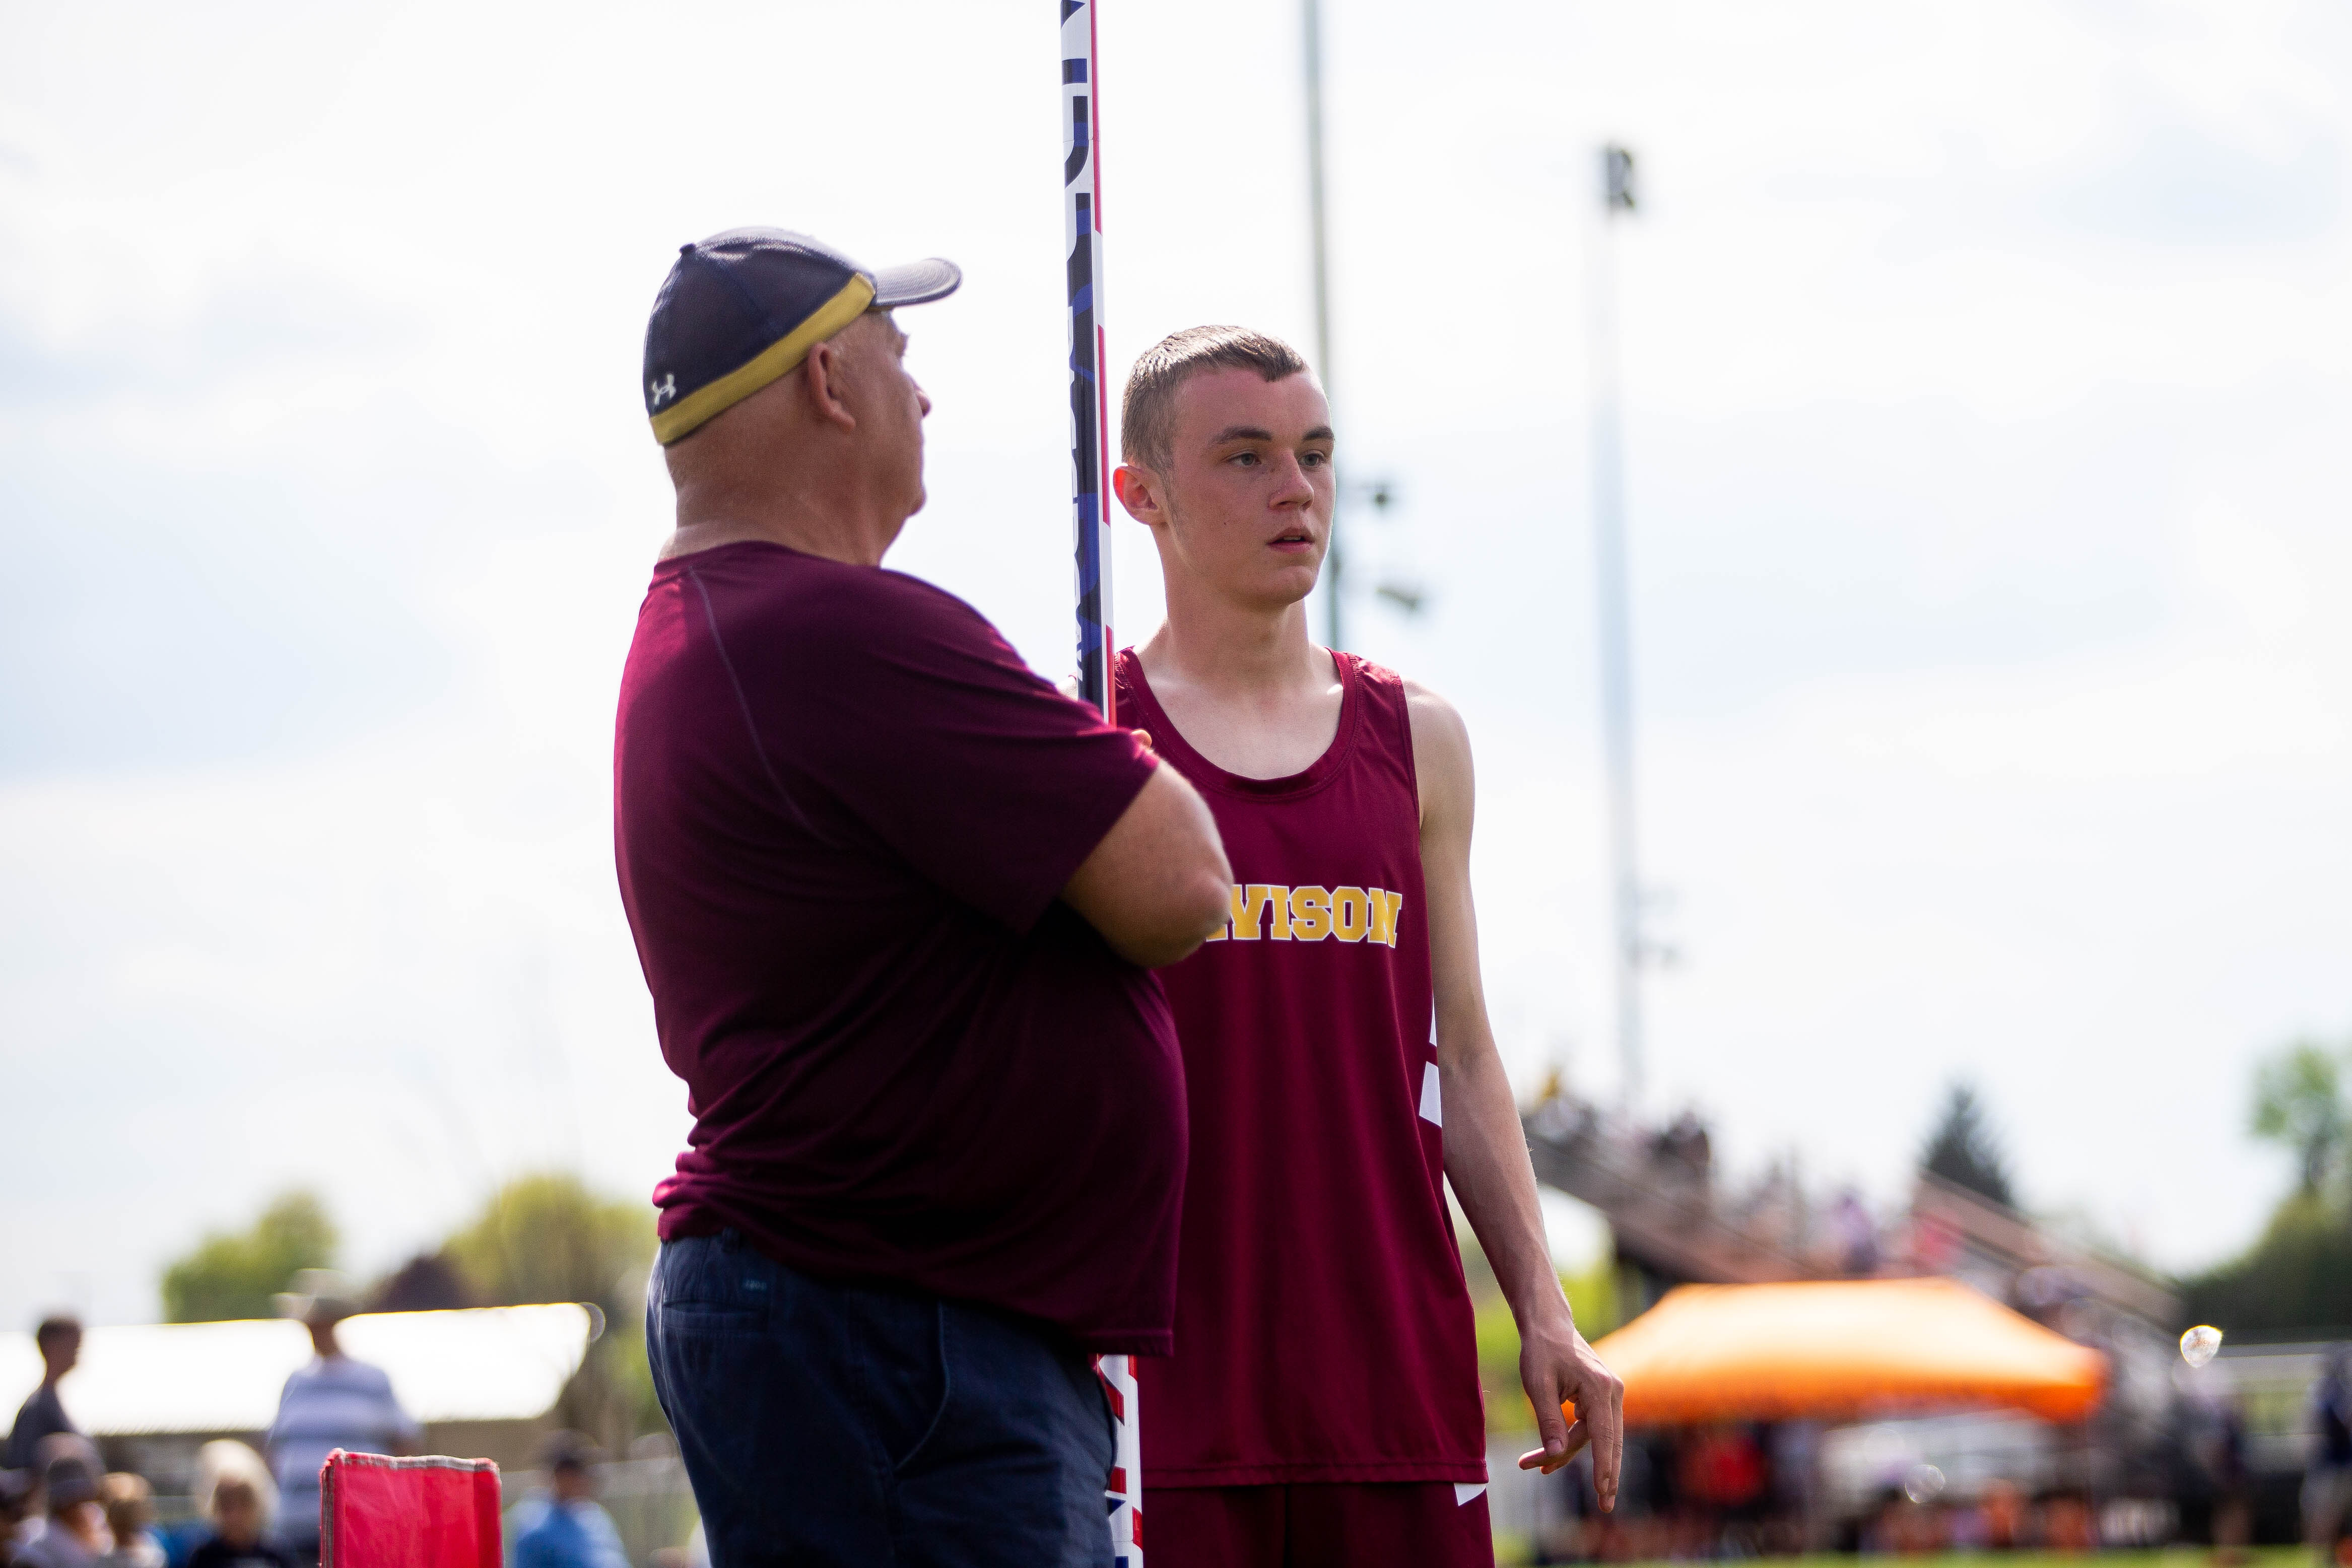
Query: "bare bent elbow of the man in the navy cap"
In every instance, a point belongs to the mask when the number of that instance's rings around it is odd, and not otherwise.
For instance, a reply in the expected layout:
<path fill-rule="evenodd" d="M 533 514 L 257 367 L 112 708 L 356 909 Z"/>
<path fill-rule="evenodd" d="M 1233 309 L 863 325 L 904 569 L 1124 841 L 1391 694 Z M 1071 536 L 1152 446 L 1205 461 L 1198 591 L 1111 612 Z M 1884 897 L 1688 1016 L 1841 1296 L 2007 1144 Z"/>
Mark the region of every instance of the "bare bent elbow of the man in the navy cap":
<path fill-rule="evenodd" d="M 1232 917 L 1225 842 L 1216 818 L 1171 766 L 1152 769 L 1061 900 L 1129 964 L 1160 969 Z"/>

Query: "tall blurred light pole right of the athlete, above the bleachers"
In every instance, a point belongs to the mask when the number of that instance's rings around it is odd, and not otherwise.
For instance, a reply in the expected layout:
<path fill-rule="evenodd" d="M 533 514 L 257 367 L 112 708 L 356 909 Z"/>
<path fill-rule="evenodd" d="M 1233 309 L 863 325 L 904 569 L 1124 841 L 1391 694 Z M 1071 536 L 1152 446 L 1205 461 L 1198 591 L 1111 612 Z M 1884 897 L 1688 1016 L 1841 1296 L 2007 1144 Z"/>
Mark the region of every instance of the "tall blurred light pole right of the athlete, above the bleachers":
<path fill-rule="evenodd" d="M 1602 632 L 1602 755 L 1616 905 L 1616 1013 L 1623 1098 L 1642 1098 L 1642 877 L 1632 816 L 1632 637 L 1625 571 L 1625 430 L 1618 409 L 1616 219 L 1635 209 L 1632 153 L 1602 148 L 1602 221 L 1592 244 L 1592 545 Z"/>

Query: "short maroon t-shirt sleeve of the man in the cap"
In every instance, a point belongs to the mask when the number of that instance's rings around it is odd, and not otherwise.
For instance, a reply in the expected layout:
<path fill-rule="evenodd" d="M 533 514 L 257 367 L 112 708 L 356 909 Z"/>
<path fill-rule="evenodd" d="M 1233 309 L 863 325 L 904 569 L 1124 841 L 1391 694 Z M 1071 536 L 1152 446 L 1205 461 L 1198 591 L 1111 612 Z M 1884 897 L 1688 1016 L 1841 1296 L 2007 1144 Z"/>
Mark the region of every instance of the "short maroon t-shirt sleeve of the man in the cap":
<path fill-rule="evenodd" d="M 887 625 L 875 637 L 875 625 Z M 1061 893 L 1155 759 L 1061 696 L 969 604 L 851 571 L 814 614 L 722 625 L 779 788 L 814 783 L 927 882 L 1014 931 Z M 814 679 L 811 679 L 814 677 Z"/>

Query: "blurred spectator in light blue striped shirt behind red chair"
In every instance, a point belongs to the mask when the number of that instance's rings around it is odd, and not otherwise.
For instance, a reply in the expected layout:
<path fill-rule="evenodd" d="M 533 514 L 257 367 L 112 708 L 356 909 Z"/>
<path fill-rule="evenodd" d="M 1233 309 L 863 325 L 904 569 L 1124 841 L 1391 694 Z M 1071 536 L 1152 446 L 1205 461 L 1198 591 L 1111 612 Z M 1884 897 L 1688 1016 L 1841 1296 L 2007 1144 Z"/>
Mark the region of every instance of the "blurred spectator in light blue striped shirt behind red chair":
<path fill-rule="evenodd" d="M 381 1368 L 353 1361 L 334 1338 L 334 1326 L 360 1312 L 358 1291 L 334 1269 L 303 1269 L 294 1288 L 278 1298 L 282 1316 L 310 1331 L 310 1366 L 287 1378 L 270 1422 L 270 1467 L 285 1523 L 282 1544 L 296 1556 L 318 1556 L 318 1469 L 336 1448 L 353 1453 L 416 1453 L 421 1429 L 393 1399 L 393 1380 Z"/>

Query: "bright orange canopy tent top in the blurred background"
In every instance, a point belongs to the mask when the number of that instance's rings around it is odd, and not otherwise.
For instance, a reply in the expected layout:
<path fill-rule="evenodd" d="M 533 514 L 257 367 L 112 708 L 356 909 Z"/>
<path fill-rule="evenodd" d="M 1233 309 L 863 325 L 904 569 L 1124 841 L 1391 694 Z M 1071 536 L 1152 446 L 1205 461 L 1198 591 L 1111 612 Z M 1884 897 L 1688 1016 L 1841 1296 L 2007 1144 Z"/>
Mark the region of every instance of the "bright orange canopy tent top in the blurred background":
<path fill-rule="evenodd" d="M 2082 1420 L 2107 1359 L 1950 1279 L 1677 1286 L 1599 1345 L 1625 1420 L 1849 1420 L 2013 1406 Z"/>

